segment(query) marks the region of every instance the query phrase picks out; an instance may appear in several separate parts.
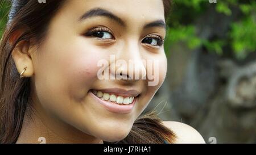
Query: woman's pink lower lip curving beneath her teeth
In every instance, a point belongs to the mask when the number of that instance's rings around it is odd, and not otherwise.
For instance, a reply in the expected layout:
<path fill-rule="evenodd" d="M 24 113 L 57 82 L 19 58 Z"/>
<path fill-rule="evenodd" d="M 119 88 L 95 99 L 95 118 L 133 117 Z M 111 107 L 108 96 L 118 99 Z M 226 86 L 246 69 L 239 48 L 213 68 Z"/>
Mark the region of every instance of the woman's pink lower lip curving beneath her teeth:
<path fill-rule="evenodd" d="M 110 103 L 106 100 L 102 100 L 96 97 L 96 95 L 94 95 L 92 91 L 89 91 L 89 94 L 96 100 L 96 102 L 100 103 L 107 110 L 109 110 L 110 112 L 119 113 L 119 114 L 130 113 L 133 110 L 135 102 L 137 101 L 137 97 L 135 97 L 133 100 L 133 103 L 127 104 L 127 105 L 119 105 L 117 103 Z"/>

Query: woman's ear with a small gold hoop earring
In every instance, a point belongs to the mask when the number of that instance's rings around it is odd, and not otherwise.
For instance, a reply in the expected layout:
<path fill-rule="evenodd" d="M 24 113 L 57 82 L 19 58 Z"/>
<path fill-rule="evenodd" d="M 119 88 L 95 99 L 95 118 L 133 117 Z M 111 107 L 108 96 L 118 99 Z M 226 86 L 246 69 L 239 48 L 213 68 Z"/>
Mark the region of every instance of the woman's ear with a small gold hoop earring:
<path fill-rule="evenodd" d="M 13 40 L 16 40 L 19 35 L 20 32 L 16 32 L 10 38 L 10 41 L 12 42 Z M 30 47 L 30 41 L 23 40 L 16 44 L 11 53 L 19 74 L 21 74 L 24 68 L 27 67 L 26 71 L 23 73 L 24 77 L 31 77 L 34 74 L 31 52 L 32 48 Z"/>

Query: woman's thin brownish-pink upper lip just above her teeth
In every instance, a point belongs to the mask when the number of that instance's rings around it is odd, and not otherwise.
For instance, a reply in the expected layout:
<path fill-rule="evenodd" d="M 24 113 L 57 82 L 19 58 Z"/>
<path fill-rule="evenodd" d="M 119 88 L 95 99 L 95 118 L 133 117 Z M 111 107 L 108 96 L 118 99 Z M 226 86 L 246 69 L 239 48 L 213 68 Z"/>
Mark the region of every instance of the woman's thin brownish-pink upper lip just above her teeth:
<path fill-rule="evenodd" d="M 112 88 L 112 89 L 100 89 L 97 91 L 102 91 L 103 93 L 108 93 L 108 94 L 119 95 L 122 97 L 137 97 L 140 94 L 139 91 L 134 89 L 125 90 L 125 89 L 119 89 L 119 88 Z"/>

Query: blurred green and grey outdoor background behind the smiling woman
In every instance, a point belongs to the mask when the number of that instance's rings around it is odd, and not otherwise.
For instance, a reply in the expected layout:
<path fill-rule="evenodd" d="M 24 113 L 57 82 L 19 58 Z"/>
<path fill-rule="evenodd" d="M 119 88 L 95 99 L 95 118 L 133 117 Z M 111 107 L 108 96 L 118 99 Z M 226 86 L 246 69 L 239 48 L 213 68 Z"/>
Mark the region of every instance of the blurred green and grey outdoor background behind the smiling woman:
<path fill-rule="evenodd" d="M 0 0 L 0 37 L 9 8 Z M 167 24 L 167 77 L 145 112 L 206 143 L 256 143 L 256 1 L 174 0 Z"/>

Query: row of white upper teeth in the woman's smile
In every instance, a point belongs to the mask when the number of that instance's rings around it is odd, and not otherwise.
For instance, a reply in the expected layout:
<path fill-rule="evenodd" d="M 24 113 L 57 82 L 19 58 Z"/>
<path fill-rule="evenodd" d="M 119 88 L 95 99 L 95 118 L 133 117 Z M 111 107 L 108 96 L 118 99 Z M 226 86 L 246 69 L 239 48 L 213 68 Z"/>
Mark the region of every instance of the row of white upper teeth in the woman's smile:
<path fill-rule="evenodd" d="M 131 104 L 133 103 L 134 97 L 122 97 L 114 94 L 102 93 L 102 91 L 92 90 L 92 93 L 102 100 L 109 102 L 115 102 L 117 104 Z"/>

